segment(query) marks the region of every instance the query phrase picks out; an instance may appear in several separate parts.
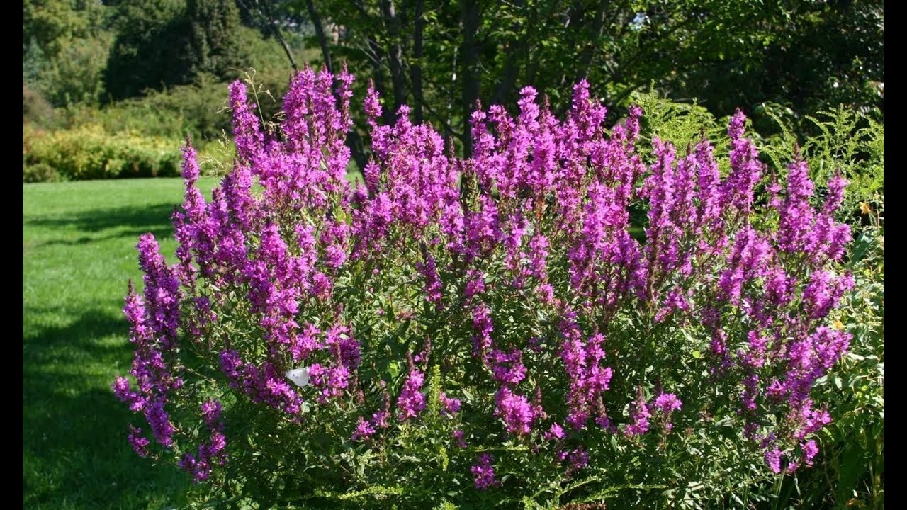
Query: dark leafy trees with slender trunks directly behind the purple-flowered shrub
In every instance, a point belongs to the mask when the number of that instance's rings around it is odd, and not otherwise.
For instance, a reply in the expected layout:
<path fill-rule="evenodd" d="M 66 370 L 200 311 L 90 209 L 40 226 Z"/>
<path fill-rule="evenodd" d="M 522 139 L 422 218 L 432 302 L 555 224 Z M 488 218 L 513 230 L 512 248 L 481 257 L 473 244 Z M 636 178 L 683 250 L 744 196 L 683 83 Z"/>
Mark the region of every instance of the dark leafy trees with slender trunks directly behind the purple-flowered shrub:
<path fill-rule="evenodd" d="M 343 27 L 312 45 L 329 47 L 322 62 L 346 60 L 373 77 L 387 117 L 408 103 L 416 121 L 463 143 L 476 100 L 514 103 L 532 84 L 563 108 L 582 77 L 612 106 L 652 86 L 671 99 L 697 98 L 719 116 L 764 102 L 884 114 L 878 0 L 275 4 L 295 12 L 314 5 L 326 28 Z"/>

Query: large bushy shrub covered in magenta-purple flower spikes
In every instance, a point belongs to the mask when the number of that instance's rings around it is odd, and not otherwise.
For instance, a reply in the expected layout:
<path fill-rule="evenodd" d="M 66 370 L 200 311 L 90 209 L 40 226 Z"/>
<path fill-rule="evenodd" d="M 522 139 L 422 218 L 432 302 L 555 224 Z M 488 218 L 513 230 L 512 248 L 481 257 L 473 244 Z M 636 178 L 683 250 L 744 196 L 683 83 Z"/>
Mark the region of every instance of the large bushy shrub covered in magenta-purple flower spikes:
<path fill-rule="evenodd" d="M 850 338 L 844 179 L 769 172 L 742 113 L 727 161 L 643 161 L 639 108 L 609 132 L 579 83 L 563 120 L 530 87 L 473 113 L 467 160 L 370 91 L 350 184 L 352 80 L 297 74 L 278 132 L 233 83 L 211 201 L 183 150 L 178 260 L 141 237 L 114 383 L 139 455 L 206 497 L 356 507 L 695 505 L 814 462 Z"/>

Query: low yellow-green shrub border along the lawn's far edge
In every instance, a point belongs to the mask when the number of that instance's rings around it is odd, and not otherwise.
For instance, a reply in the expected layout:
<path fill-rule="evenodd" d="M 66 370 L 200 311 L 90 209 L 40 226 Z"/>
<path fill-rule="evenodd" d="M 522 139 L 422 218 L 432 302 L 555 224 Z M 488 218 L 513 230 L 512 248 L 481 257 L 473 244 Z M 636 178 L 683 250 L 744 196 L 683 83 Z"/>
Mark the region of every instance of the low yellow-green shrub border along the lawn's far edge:
<path fill-rule="evenodd" d="M 179 175 L 179 145 L 135 132 L 106 132 L 97 124 L 44 131 L 22 128 L 23 181 L 53 168 L 63 180 L 165 177 Z"/>

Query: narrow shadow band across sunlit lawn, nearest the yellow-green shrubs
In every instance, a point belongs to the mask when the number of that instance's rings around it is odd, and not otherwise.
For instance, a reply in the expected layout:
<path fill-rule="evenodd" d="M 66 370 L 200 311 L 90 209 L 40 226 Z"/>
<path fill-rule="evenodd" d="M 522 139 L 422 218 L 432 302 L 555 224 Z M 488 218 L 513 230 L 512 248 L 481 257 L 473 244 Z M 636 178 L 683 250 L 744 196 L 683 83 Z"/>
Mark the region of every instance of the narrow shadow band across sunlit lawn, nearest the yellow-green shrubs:
<path fill-rule="evenodd" d="M 24 226 L 54 228 L 58 230 L 78 230 L 85 233 L 100 233 L 104 230 L 117 229 L 117 232 L 99 238 L 84 235 L 76 239 L 58 238 L 48 240 L 43 245 L 54 244 L 87 244 L 97 240 L 120 237 L 135 237 L 150 231 L 156 238 L 171 237 L 172 203 L 158 203 L 143 207 L 123 206 L 80 211 L 65 216 L 44 216 L 24 221 Z"/>

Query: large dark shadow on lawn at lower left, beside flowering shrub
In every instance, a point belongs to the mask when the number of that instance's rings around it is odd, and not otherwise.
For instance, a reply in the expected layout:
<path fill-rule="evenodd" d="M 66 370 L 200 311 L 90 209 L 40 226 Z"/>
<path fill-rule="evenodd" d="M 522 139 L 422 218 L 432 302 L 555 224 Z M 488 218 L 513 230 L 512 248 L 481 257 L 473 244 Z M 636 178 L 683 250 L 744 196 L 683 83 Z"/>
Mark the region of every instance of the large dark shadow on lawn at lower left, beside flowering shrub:
<path fill-rule="evenodd" d="M 27 313 L 65 317 L 67 310 Z M 111 367 L 128 372 L 131 345 L 113 339 L 125 340 L 126 321 L 111 309 L 89 309 L 63 326 L 32 322 L 22 356 L 24 507 L 65 501 L 67 507 L 134 508 L 177 498 L 187 476 L 152 468 L 132 452 L 127 424 L 141 420 L 98 385 L 99 378 L 112 379 Z"/>

